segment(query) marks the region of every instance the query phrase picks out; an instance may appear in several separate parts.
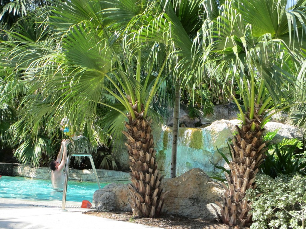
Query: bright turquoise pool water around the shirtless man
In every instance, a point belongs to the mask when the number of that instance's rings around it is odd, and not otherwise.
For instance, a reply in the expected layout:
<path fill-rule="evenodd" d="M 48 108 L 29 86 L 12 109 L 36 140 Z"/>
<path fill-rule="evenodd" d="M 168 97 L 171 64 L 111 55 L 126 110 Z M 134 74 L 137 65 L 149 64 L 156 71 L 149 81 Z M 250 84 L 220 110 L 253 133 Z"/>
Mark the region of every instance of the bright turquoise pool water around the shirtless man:
<path fill-rule="evenodd" d="M 107 184 L 101 184 L 101 188 Z M 68 180 L 66 201 L 92 202 L 97 183 Z M 20 176 L 0 177 L 0 197 L 35 200 L 60 200 L 63 192 L 52 189 L 51 180 L 32 179 Z"/>

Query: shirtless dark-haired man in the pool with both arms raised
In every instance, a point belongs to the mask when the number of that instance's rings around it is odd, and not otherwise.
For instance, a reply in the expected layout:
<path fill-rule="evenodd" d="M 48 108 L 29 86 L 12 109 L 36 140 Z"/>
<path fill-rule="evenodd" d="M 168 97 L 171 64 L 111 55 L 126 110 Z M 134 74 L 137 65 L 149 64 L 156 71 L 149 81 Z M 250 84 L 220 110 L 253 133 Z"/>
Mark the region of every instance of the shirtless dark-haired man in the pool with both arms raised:
<path fill-rule="evenodd" d="M 55 190 L 62 190 L 64 188 L 65 176 L 63 170 L 67 161 L 67 146 L 70 140 L 64 139 L 62 141 L 61 149 L 58 153 L 56 160 L 50 162 L 49 167 L 51 169 L 51 182 L 52 187 Z"/>

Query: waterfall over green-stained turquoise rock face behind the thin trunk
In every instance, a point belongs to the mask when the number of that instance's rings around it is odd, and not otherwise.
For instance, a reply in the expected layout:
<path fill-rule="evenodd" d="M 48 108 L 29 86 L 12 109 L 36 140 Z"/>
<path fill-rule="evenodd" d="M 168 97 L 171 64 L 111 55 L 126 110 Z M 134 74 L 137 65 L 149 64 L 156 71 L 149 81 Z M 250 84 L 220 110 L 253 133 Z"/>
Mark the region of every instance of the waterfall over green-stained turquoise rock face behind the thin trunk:
<path fill-rule="evenodd" d="M 226 152 L 227 139 L 232 137 L 239 120 L 220 120 L 204 128 L 179 128 L 177 141 L 177 176 L 193 168 L 203 169 L 208 175 L 215 175 L 214 165 L 223 166 L 225 161 L 217 151 Z M 156 136 L 156 135 L 155 135 Z M 162 126 L 155 138 L 158 168 L 170 177 L 172 153 L 172 127 Z M 218 171 L 219 172 L 219 171 Z"/>

